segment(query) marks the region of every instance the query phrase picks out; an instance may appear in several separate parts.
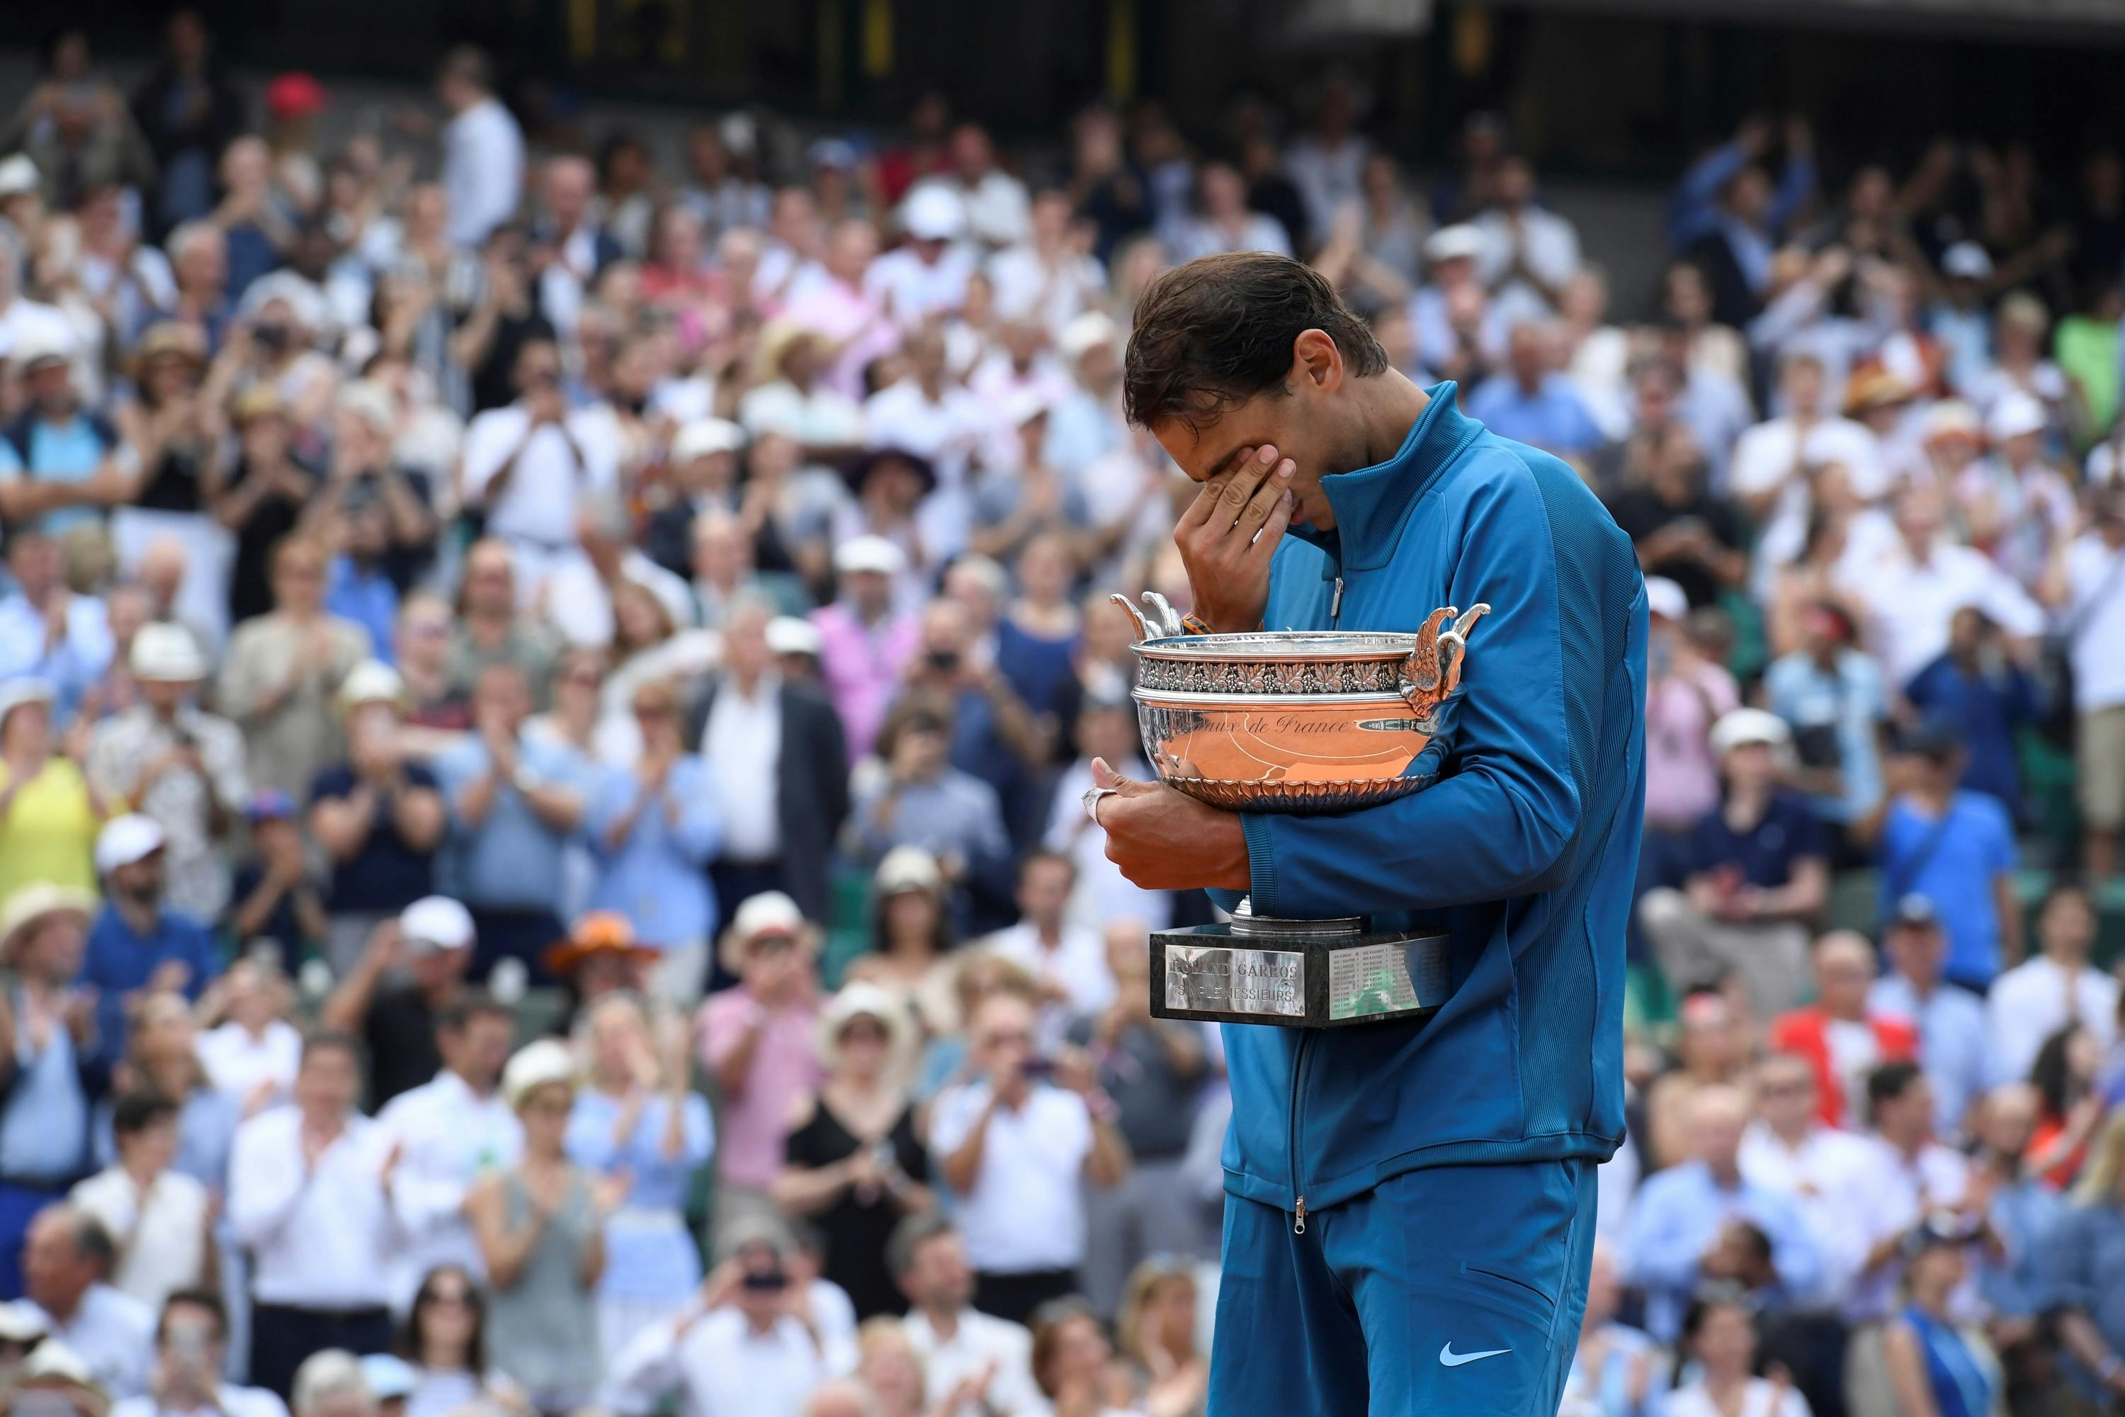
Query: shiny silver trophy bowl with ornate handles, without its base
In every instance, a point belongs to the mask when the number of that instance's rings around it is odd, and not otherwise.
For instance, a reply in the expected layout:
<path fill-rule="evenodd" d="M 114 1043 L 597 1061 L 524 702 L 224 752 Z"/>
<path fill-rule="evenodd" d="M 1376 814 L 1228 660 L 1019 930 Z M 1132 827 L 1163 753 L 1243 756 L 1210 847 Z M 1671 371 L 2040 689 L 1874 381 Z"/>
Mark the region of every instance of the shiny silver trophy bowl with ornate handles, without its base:
<path fill-rule="evenodd" d="M 1137 727 L 1158 775 L 1235 812 L 1347 812 L 1415 792 L 1468 631 L 1490 605 L 1434 610 L 1415 633 L 1190 635 L 1162 597 L 1137 622 Z M 1454 625 L 1447 627 L 1447 620 Z"/>

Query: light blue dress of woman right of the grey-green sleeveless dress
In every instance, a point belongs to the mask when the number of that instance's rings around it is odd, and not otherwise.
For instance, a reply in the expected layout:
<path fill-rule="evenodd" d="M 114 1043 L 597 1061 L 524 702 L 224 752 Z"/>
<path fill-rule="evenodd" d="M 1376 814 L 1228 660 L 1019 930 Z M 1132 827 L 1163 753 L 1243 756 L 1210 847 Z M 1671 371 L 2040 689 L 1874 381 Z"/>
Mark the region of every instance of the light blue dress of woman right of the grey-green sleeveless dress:
<path fill-rule="evenodd" d="M 606 1222 L 606 1277 L 599 1298 L 678 1302 L 701 1283 L 701 1256 L 686 1234 L 693 1177 L 716 1149 L 708 1098 L 688 1092 L 680 1107 L 680 1149 L 665 1156 L 672 1098 L 652 1096 L 625 1143 L 614 1143 L 620 1100 L 584 1088 L 567 1117 L 567 1156 L 599 1175 L 629 1173 L 627 1205 Z"/>

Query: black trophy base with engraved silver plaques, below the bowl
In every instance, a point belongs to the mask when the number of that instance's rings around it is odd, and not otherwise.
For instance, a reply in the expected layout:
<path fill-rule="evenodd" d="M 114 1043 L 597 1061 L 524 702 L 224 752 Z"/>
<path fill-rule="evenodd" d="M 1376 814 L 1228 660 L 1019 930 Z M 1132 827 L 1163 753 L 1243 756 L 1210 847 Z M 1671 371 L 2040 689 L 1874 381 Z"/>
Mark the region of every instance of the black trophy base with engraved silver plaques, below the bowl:
<path fill-rule="evenodd" d="M 1152 1018 L 1343 1028 L 1430 1018 L 1447 998 L 1447 937 L 1364 918 L 1275 920 L 1241 901 L 1228 924 L 1152 933 Z"/>

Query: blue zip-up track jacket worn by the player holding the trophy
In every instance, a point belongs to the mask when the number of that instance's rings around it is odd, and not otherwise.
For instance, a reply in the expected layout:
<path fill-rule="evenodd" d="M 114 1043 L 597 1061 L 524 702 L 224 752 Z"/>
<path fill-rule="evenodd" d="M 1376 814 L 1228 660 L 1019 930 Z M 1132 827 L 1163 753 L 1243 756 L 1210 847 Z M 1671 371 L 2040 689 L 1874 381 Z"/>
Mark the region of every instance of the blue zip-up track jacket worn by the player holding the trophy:
<path fill-rule="evenodd" d="M 1262 622 L 1415 631 L 1488 601 L 1409 769 L 1434 782 L 1337 816 L 1245 814 L 1245 833 L 1256 914 L 1445 931 L 1454 994 L 1424 1026 L 1224 1026 L 1226 1190 L 1286 1211 L 1624 1139 L 1645 584 L 1579 474 L 1464 416 L 1454 385 L 1430 395 L 1394 459 L 1322 480 L 1337 527 L 1284 540 Z"/>

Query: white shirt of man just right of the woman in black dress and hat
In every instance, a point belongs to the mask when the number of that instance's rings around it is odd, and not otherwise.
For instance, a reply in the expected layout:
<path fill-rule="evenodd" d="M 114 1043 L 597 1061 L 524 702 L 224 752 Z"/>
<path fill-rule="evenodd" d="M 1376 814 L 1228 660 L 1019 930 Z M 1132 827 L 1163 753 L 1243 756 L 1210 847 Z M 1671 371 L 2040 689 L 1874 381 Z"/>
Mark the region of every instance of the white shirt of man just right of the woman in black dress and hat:
<path fill-rule="evenodd" d="M 937 1094 L 931 1154 L 958 1151 L 988 1111 L 986 1081 Z M 1084 1162 L 1092 1113 L 1084 1098 L 1035 1083 L 1024 1107 L 988 1117 L 982 1166 L 960 1198 L 958 1226 L 973 1268 L 990 1275 L 1067 1270 L 1084 1262 Z"/>

